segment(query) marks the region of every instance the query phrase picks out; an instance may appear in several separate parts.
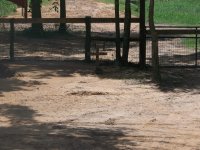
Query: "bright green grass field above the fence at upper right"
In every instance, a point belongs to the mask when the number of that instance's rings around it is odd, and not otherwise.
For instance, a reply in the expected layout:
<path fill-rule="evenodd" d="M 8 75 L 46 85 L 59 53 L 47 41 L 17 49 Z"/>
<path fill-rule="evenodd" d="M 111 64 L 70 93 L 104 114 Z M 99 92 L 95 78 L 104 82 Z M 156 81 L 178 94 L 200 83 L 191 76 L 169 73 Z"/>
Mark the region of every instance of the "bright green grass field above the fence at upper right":
<path fill-rule="evenodd" d="M 98 0 L 114 4 L 114 0 Z M 148 21 L 146 2 L 146 21 Z M 124 11 L 124 0 L 120 0 L 120 10 Z M 132 5 L 133 15 L 137 16 L 137 6 Z M 200 25 L 200 0 L 156 0 L 155 22 L 157 24 Z"/>

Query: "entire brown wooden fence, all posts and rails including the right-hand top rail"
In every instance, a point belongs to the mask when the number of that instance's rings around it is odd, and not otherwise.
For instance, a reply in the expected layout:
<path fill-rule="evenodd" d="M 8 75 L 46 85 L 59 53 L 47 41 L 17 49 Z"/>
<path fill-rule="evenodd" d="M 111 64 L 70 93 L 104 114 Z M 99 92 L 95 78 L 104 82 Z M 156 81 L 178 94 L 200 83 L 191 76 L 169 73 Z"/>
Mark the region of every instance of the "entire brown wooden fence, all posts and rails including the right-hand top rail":
<path fill-rule="evenodd" d="M 132 23 L 141 24 L 143 20 L 140 18 L 132 18 Z M 124 18 L 120 18 L 120 23 L 124 22 Z M 91 18 L 90 16 L 85 18 L 43 18 L 43 19 L 23 19 L 23 18 L 0 18 L 0 23 L 9 23 L 10 24 L 10 59 L 14 60 L 15 58 L 15 24 L 27 24 L 27 23 L 77 23 L 85 24 L 86 35 L 85 35 L 85 60 L 90 61 L 91 58 L 91 41 L 112 41 L 116 42 L 115 37 L 92 37 L 91 36 L 91 24 L 95 23 L 115 23 L 115 18 Z M 143 23 L 144 24 L 144 23 Z M 156 30 L 160 36 L 167 35 L 184 35 L 184 34 L 200 34 L 200 30 L 196 30 L 195 27 L 187 26 L 156 26 Z M 149 36 L 150 31 L 148 27 L 140 27 L 140 33 L 137 37 L 132 37 L 130 41 L 138 41 L 140 43 L 140 53 L 139 53 L 139 63 L 145 64 L 146 61 L 146 36 Z M 120 39 L 121 41 L 123 38 Z"/>

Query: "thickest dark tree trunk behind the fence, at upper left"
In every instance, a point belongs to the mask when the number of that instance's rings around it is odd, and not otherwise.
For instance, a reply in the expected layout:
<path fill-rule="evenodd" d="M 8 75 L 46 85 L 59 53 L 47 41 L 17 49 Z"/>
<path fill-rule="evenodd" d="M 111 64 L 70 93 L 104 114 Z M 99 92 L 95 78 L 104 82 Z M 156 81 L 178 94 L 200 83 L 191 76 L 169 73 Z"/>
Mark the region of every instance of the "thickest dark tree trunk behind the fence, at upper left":
<path fill-rule="evenodd" d="M 31 0 L 31 6 L 32 6 L 32 18 L 33 19 L 41 18 L 41 0 Z M 41 34 L 43 32 L 42 23 L 33 23 L 32 31 L 35 32 L 35 34 Z"/>

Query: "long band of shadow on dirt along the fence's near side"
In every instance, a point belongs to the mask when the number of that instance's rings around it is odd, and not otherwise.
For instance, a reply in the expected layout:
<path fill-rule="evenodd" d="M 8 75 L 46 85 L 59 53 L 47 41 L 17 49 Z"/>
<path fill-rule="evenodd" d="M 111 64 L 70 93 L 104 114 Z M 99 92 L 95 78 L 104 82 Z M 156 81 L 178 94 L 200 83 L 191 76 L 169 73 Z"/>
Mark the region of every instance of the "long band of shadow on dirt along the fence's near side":
<path fill-rule="evenodd" d="M 126 67 L 116 66 L 113 62 L 101 62 L 103 70 L 101 74 L 96 74 L 95 63 L 84 61 L 15 61 L 10 66 L 22 74 L 34 72 L 32 77 L 36 80 L 33 85 L 45 84 L 40 79 L 51 79 L 52 77 L 73 77 L 75 74 L 81 76 L 97 76 L 101 79 L 124 80 L 127 84 L 149 84 L 161 91 L 198 91 L 200 89 L 200 69 L 199 68 L 161 68 L 162 81 L 155 84 L 151 80 L 151 68 L 140 69 L 137 65 Z M 25 82 L 20 78 L 0 80 L 6 87 L 0 87 L 0 92 L 21 90 L 23 87 L 30 86 L 31 83 Z M 33 82 L 33 81 L 30 81 Z M 198 92 L 197 92 L 198 93 Z"/>

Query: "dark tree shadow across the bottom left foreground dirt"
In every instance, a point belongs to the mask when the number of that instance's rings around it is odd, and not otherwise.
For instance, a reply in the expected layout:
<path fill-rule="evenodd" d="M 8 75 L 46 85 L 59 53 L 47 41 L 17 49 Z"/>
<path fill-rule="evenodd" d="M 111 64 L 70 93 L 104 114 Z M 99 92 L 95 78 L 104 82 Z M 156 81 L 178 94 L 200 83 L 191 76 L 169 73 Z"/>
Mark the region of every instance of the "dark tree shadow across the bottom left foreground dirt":
<path fill-rule="evenodd" d="M 35 120 L 38 115 L 27 106 L 1 104 L 0 149 L 140 149 L 136 142 L 124 138 L 122 128 L 78 127 L 67 122 L 42 123 Z"/>

